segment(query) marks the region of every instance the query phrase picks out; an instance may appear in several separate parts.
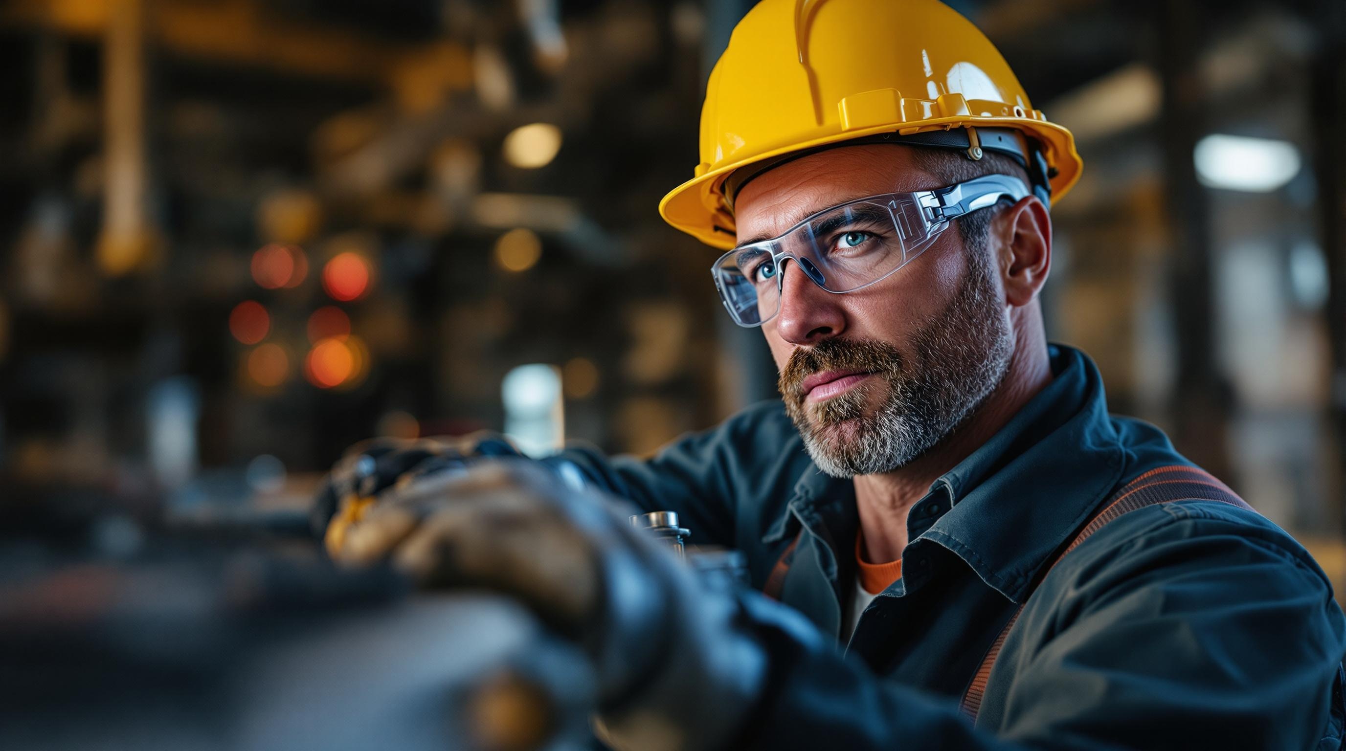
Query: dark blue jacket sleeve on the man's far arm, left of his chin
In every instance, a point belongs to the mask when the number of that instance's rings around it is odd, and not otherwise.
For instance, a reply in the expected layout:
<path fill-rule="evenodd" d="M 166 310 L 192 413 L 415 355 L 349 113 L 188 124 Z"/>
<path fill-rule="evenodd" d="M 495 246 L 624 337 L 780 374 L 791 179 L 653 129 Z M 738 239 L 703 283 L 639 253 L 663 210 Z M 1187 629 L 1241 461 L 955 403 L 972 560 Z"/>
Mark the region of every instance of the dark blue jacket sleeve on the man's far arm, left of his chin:
<path fill-rule="evenodd" d="M 791 451 L 798 433 L 779 401 L 762 402 L 700 433 L 685 435 L 653 458 L 606 456 L 571 444 L 551 462 L 567 462 L 586 483 L 645 511 L 677 511 L 695 544 L 739 546 L 735 528 L 766 514 L 762 498 L 787 498 L 806 462 Z M 754 517 L 755 518 L 755 517 Z"/>

